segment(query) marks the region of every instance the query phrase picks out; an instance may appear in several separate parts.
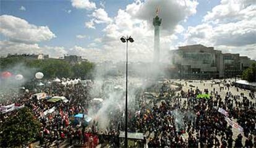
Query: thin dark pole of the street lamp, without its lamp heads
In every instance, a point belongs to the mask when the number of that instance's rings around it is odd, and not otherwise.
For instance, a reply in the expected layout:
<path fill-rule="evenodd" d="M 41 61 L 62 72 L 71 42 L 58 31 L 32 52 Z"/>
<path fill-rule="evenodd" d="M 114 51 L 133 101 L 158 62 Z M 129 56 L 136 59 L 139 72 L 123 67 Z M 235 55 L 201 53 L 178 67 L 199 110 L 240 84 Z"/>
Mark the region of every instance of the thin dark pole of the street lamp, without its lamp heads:
<path fill-rule="evenodd" d="M 128 36 L 127 36 L 128 38 Z M 128 107 L 128 96 L 127 96 L 127 92 L 128 92 L 128 39 L 126 40 L 126 124 L 125 124 L 125 139 L 124 139 L 124 147 L 128 147 L 128 136 L 127 136 L 127 107 Z"/>

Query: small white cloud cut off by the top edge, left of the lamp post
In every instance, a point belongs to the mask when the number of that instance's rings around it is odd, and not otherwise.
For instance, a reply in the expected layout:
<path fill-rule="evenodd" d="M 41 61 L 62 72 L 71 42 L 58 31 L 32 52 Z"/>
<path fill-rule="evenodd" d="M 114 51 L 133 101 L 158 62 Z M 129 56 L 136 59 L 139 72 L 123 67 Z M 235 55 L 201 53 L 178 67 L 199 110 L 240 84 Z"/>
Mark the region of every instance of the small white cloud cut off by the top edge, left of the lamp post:
<path fill-rule="evenodd" d="M 72 6 L 77 9 L 96 9 L 95 2 L 90 2 L 89 0 L 71 0 Z"/>

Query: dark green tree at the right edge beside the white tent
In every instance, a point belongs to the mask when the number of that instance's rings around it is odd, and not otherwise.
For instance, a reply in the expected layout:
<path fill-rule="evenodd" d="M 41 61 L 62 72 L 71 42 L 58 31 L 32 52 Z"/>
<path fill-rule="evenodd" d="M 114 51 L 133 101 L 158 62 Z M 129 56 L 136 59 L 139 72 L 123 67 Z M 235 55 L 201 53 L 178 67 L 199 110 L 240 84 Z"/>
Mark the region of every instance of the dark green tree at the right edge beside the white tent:
<path fill-rule="evenodd" d="M 244 70 L 242 73 L 242 80 L 246 80 L 249 82 L 255 82 L 256 81 L 256 64 L 252 64 L 251 67 Z"/>

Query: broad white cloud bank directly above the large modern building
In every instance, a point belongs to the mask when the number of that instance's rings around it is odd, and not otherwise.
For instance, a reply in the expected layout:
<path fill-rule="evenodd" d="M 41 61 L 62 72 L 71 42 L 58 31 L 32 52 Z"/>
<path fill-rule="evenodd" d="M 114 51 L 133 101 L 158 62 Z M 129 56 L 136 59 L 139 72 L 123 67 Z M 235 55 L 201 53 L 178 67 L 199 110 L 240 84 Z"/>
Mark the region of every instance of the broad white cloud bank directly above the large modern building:
<path fill-rule="evenodd" d="M 241 20 L 212 26 L 208 23 L 189 27 L 187 44 L 208 46 L 245 46 L 256 43 L 256 19 Z"/>

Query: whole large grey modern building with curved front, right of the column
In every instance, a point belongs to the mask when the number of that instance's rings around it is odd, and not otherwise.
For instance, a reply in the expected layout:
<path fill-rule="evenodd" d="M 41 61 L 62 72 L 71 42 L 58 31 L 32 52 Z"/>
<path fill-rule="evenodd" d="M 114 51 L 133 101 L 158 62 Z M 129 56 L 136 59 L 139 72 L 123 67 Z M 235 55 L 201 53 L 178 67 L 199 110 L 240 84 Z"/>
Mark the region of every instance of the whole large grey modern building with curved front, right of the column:
<path fill-rule="evenodd" d="M 254 60 L 239 54 L 223 54 L 202 44 L 181 46 L 170 51 L 171 64 L 179 78 L 228 78 L 241 75 Z"/>

